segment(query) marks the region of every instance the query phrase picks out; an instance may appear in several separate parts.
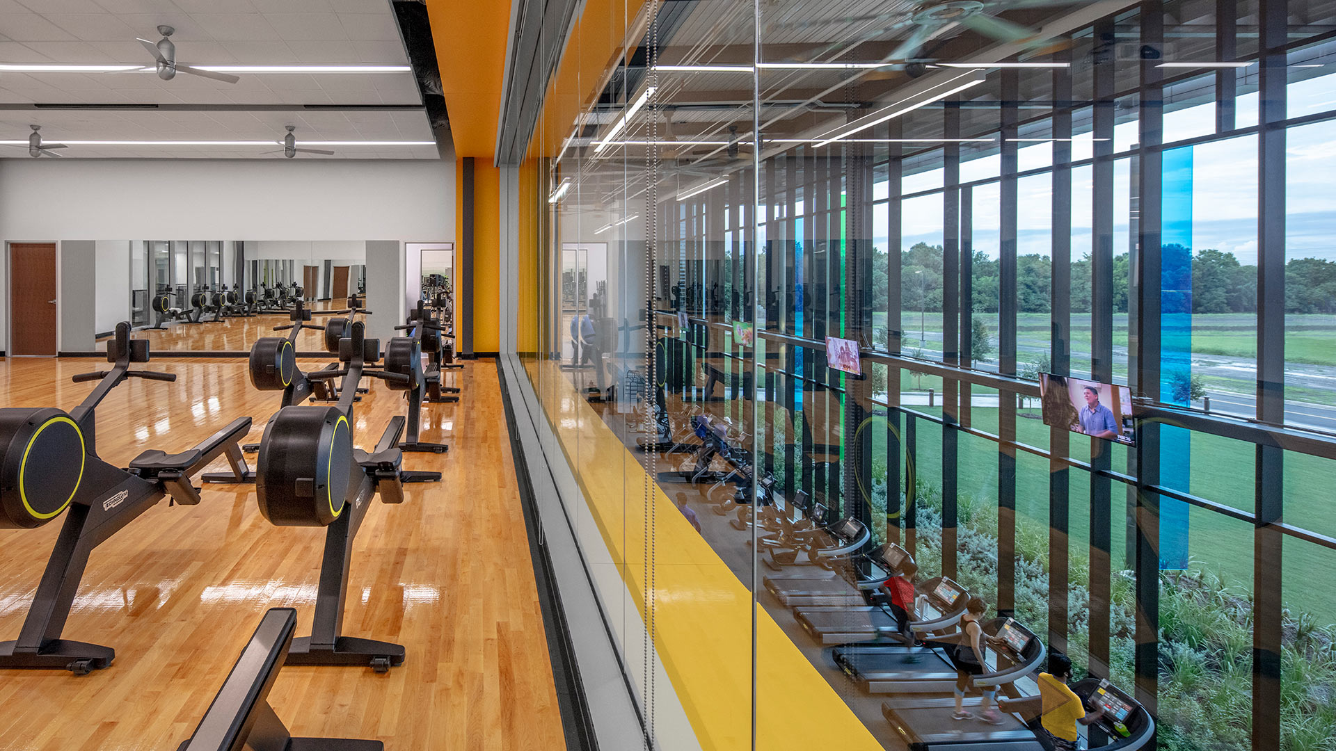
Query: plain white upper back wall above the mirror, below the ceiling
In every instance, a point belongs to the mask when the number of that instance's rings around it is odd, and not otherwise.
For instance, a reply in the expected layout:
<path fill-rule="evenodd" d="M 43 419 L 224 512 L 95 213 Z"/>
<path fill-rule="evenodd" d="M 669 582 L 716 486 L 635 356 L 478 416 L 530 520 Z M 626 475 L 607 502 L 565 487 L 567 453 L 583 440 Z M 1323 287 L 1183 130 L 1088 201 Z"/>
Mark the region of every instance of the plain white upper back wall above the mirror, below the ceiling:
<path fill-rule="evenodd" d="M 454 162 L 5 159 L 0 238 L 454 241 Z"/>

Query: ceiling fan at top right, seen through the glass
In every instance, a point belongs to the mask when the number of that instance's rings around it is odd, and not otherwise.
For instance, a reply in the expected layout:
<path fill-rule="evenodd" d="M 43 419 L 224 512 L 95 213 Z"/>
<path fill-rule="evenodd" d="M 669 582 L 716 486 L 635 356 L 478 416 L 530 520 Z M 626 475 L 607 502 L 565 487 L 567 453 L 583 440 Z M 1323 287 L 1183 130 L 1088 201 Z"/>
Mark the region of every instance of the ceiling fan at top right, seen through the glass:
<path fill-rule="evenodd" d="M 1043 47 L 1046 45 L 1046 40 L 1041 39 L 1034 29 L 1001 19 L 998 13 L 1023 8 L 1051 8 L 1075 4 L 1078 4 L 1077 0 L 929 0 L 900 12 L 823 19 L 794 25 L 815 27 L 864 21 L 876 24 L 875 28 L 867 29 L 859 39 L 854 40 L 854 44 L 875 39 L 883 33 L 910 28 L 910 35 L 886 56 L 888 61 L 907 63 L 915 60 L 923 44 L 951 24 L 959 24 L 997 41 L 1021 43 L 1029 48 Z M 840 45 L 847 48 L 851 44 L 844 41 Z"/>

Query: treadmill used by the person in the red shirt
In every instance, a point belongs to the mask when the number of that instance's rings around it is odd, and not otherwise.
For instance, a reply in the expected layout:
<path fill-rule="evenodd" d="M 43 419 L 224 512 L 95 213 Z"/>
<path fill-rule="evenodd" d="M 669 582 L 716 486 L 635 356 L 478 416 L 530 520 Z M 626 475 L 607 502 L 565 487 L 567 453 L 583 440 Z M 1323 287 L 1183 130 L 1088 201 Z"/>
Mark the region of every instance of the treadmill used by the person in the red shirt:
<path fill-rule="evenodd" d="M 910 559 L 908 552 L 895 544 L 886 544 L 878 553 L 870 556 L 872 563 L 898 576 L 900 565 Z M 884 580 L 883 580 L 884 581 Z M 914 612 L 910 613 L 910 628 L 925 636 L 945 633 L 961 621 L 970 600 L 963 587 L 945 576 L 938 576 L 915 584 L 919 596 Z M 856 644 L 880 641 L 884 637 L 896 639 L 907 645 L 908 637 L 902 635 L 890 601 L 882 592 L 871 593 L 871 605 L 799 608 L 794 615 L 808 636 L 820 644 Z"/>

